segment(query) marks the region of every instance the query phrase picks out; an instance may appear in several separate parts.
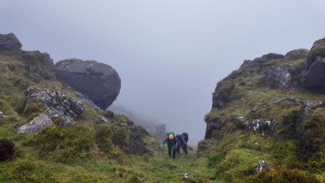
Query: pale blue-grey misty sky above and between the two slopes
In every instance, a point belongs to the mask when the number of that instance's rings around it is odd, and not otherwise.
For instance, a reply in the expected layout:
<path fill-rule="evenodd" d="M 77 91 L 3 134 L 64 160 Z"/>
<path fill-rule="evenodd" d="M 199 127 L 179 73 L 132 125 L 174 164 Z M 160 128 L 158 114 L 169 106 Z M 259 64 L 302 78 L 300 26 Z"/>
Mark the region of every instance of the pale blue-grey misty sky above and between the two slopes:
<path fill-rule="evenodd" d="M 325 0 L 0 0 L 0 17 L 24 50 L 110 64 L 122 78 L 115 104 L 192 143 L 216 83 L 244 59 L 325 36 Z"/>

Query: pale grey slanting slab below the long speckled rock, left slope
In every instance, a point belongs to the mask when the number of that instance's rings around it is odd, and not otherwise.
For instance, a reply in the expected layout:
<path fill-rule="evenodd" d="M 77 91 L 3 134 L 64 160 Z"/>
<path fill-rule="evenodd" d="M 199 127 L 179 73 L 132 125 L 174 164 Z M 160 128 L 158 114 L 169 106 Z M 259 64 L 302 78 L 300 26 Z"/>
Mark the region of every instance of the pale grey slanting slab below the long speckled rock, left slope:
<path fill-rule="evenodd" d="M 56 121 L 56 123 L 60 121 L 58 125 L 71 125 L 71 121 L 69 121 L 67 116 L 64 116 L 53 107 L 50 107 L 39 116 L 36 116 L 29 123 L 22 125 L 22 127 L 18 129 L 18 133 L 37 132 L 47 125 L 53 125 L 54 121 Z"/>

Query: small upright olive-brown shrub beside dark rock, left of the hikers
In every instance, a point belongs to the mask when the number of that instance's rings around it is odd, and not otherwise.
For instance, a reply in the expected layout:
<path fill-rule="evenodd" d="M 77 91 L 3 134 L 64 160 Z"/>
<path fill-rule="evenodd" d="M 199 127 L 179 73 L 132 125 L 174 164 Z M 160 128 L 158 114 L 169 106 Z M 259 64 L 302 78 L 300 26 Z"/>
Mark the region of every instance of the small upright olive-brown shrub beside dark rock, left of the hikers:
<path fill-rule="evenodd" d="M 101 124 L 96 129 L 95 137 L 94 137 L 99 149 L 104 153 L 109 153 L 113 150 L 113 142 L 112 142 L 112 129 L 110 125 Z"/>

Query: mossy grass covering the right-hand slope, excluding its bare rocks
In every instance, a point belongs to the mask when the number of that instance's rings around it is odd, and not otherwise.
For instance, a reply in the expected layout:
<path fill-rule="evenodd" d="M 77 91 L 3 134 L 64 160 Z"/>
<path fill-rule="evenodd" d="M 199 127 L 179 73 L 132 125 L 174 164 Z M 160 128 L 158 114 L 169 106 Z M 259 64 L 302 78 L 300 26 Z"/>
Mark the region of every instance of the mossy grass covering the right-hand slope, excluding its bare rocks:
<path fill-rule="evenodd" d="M 300 143 L 294 133 L 293 114 L 299 106 L 290 102 L 282 102 L 260 110 L 253 116 L 255 119 L 277 119 L 278 130 L 274 136 L 240 130 L 234 123 L 234 116 L 251 116 L 254 108 L 275 101 L 279 98 L 294 96 L 302 101 L 324 101 L 324 92 L 304 89 L 276 89 L 267 83 L 265 74 L 253 74 L 254 69 L 261 67 L 286 66 L 290 71 L 299 73 L 303 68 L 304 59 L 285 57 L 280 60 L 269 60 L 256 67 L 240 68 L 233 71 L 219 83 L 215 94 L 224 92 L 228 103 L 223 107 L 215 107 L 206 115 L 207 123 L 222 119 L 223 128 L 213 134 L 213 139 L 199 143 L 200 155 L 211 157 L 222 155 L 222 160 L 215 163 L 217 180 L 225 182 L 324 182 L 324 144 L 320 145 L 319 153 L 308 162 L 303 162 Z M 293 79 L 299 76 L 293 76 Z M 214 98 L 216 100 L 217 98 Z M 216 103 L 217 101 L 213 101 Z M 318 116 L 319 119 L 319 116 Z M 319 122 L 317 123 L 320 124 Z M 314 123 L 315 125 L 315 123 Z M 306 128 L 306 127 L 305 127 Z M 324 130 L 324 125 L 319 125 Z M 311 133 L 315 133 L 314 131 Z M 324 132 L 324 131 L 323 131 Z M 324 135 L 315 138 L 318 143 L 324 142 Z M 210 144 L 210 146 L 206 146 Z M 253 168 L 259 160 L 265 159 L 271 170 L 254 175 Z M 313 160 L 314 159 L 314 160 Z M 315 163 L 315 159 L 317 163 Z"/>

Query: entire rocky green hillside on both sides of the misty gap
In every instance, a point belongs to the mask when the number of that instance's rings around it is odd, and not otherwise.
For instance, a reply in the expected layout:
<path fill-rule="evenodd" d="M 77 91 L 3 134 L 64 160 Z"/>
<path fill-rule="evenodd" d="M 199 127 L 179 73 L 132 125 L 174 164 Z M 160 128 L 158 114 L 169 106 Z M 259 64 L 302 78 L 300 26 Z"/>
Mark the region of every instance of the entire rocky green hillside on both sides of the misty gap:
<path fill-rule="evenodd" d="M 245 60 L 218 82 L 197 150 L 172 159 L 105 111 L 122 86 L 115 69 L 54 65 L 0 35 L 0 182 L 324 182 L 324 57 L 325 39 Z"/>

